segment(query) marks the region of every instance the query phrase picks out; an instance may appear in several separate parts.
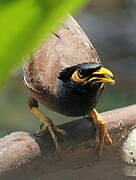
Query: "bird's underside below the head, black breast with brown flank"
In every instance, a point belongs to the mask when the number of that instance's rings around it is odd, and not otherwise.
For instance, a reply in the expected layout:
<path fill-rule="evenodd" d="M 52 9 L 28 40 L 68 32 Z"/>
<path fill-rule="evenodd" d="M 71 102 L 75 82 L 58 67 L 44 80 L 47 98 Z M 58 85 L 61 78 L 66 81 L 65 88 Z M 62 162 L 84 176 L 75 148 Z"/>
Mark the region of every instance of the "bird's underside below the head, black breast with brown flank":
<path fill-rule="evenodd" d="M 32 93 L 32 96 L 48 109 L 62 115 L 83 116 L 97 105 L 100 87 L 88 91 L 73 91 L 60 86 L 56 93 Z"/>

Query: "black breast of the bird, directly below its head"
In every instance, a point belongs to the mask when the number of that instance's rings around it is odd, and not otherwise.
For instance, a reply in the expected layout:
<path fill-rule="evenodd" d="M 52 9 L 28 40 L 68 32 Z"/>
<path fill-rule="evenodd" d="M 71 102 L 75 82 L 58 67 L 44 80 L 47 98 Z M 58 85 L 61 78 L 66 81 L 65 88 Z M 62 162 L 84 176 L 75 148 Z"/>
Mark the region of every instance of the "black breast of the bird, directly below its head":
<path fill-rule="evenodd" d="M 67 116 L 86 115 L 98 101 L 98 92 L 61 90 L 58 95 L 58 111 Z"/>

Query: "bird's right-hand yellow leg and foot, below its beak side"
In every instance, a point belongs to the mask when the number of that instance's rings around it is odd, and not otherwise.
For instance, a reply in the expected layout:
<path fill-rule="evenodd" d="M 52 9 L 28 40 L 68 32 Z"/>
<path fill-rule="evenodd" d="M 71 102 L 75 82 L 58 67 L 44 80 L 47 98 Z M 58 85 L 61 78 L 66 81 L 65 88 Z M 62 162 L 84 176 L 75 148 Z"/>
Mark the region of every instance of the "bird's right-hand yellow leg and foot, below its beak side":
<path fill-rule="evenodd" d="M 98 130 L 99 130 L 98 152 L 99 152 L 99 156 L 101 157 L 104 141 L 106 140 L 109 144 L 112 144 L 112 139 L 105 126 L 105 120 L 102 119 L 102 117 L 96 111 L 96 109 L 93 109 L 92 111 L 90 111 L 89 116 L 91 117 L 93 122 L 97 125 Z"/>

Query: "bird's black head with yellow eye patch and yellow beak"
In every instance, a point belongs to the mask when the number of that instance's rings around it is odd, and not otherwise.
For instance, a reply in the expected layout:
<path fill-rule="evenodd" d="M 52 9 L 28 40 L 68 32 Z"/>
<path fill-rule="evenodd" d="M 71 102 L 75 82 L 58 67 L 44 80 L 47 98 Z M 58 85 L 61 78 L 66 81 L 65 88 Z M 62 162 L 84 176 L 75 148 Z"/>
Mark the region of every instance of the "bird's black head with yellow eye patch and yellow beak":
<path fill-rule="evenodd" d="M 87 62 L 62 70 L 59 79 L 64 83 L 93 87 L 102 83 L 114 84 L 112 77 L 112 72 L 101 64 Z"/>

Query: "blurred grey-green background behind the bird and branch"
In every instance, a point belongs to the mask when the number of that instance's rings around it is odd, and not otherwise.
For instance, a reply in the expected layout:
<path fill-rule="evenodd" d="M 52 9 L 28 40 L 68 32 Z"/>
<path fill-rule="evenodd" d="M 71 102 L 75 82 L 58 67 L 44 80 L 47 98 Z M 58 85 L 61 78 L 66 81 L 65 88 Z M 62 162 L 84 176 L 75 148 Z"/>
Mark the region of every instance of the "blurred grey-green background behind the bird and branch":
<path fill-rule="evenodd" d="M 116 85 L 108 86 L 101 97 L 97 106 L 100 112 L 136 102 L 135 9 L 134 0 L 93 0 L 75 16 L 116 80 Z M 0 92 L 0 137 L 39 129 L 39 120 L 29 112 L 29 93 L 22 79 L 20 68 Z M 55 124 L 73 119 L 52 112 L 49 115 Z"/>

